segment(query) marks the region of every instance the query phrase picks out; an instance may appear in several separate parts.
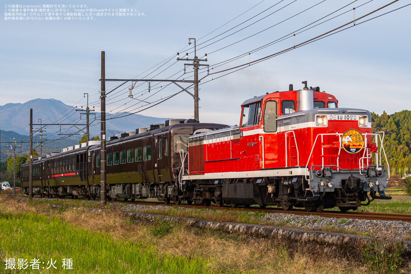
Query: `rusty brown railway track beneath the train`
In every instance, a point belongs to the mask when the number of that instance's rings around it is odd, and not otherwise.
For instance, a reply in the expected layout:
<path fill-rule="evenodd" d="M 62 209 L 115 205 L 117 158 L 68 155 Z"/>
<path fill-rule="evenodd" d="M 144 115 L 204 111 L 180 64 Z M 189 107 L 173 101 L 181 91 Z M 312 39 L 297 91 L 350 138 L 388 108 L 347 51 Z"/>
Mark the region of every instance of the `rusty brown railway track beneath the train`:
<path fill-rule="evenodd" d="M 25 195 L 10 195 L 10 196 L 18 196 L 18 197 L 27 197 Z M 39 197 L 33 196 L 33 198 L 37 199 L 44 199 L 48 197 Z M 58 199 L 57 197 L 53 197 L 54 199 Z M 84 198 L 72 199 L 72 198 L 60 198 L 60 200 L 88 200 Z M 321 212 L 306 212 L 303 209 L 293 209 L 290 211 L 284 211 L 280 207 L 236 207 L 232 208 L 229 205 L 224 205 L 224 207 L 217 207 L 217 205 L 211 206 L 204 206 L 204 205 L 196 205 L 196 204 L 180 204 L 176 205 L 175 203 L 164 204 L 162 202 L 146 202 L 146 201 L 124 201 L 124 200 L 116 200 L 116 201 L 107 201 L 107 203 L 126 203 L 126 204 L 134 204 L 134 205 L 164 205 L 164 206 L 178 206 L 178 207 L 186 207 L 186 208 L 197 208 L 197 209 L 211 209 L 211 210 L 232 210 L 232 211 L 252 211 L 252 212 L 263 212 L 263 213 L 286 213 L 286 214 L 295 214 L 295 215 L 312 215 L 312 216 L 321 216 L 326 218 L 346 218 L 346 219 L 364 219 L 364 220 L 384 220 L 384 221 L 404 221 L 404 222 L 411 222 L 411 214 L 396 214 L 396 213 L 378 213 L 378 212 L 356 212 L 356 211 L 347 211 L 347 212 L 340 212 L 340 211 L 333 211 L 333 210 L 324 210 Z"/>

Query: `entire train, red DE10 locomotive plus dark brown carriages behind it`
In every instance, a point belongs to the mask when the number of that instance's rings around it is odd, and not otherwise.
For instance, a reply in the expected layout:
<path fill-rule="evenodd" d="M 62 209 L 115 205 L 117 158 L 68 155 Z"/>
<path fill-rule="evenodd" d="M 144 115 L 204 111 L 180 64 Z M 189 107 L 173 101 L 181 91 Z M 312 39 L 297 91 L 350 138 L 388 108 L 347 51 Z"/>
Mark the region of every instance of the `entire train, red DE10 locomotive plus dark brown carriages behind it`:
<path fill-rule="evenodd" d="M 339 108 L 333 95 L 303 83 L 246 100 L 240 126 L 170 120 L 113 138 L 107 198 L 308 212 L 390 199 L 384 134 L 372 133 L 370 112 Z M 32 193 L 99 197 L 100 149 L 83 143 L 33 161 Z M 28 168 L 21 167 L 25 193 Z"/>

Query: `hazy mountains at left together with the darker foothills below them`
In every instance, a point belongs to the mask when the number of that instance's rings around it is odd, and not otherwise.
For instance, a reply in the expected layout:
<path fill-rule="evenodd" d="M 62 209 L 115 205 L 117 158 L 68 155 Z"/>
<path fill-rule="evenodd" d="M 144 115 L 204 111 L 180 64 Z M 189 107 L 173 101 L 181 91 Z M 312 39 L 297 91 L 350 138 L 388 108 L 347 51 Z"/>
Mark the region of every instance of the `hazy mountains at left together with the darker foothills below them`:
<path fill-rule="evenodd" d="M 30 131 L 30 108 L 33 109 L 33 148 L 40 153 L 39 149 L 39 131 L 44 124 L 67 124 L 67 125 L 48 125 L 46 126 L 46 131 L 43 131 L 43 154 L 48 154 L 51 152 L 60 152 L 62 148 L 69 147 L 72 145 L 77 145 L 79 140 L 85 132 L 77 132 L 79 129 L 85 131 L 85 126 L 76 127 L 69 125 L 79 121 L 81 124 L 85 124 L 85 111 L 76 111 L 74 106 L 69 106 L 64 104 L 62 101 L 55 99 L 34 99 L 23 104 L 5 104 L 0 106 L 0 137 L 1 142 L 12 142 L 13 138 L 16 138 L 16 142 L 20 142 L 24 138 L 24 142 L 29 141 L 29 131 Z M 164 123 L 165 120 L 169 118 L 157 118 L 144 116 L 139 114 L 131 113 L 118 113 L 117 115 L 127 115 L 128 116 L 106 120 L 106 136 L 109 138 L 115 134 L 120 134 L 125 131 L 134 131 L 140 127 L 147 127 L 150 124 Z M 97 120 L 94 120 L 94 117 Z M 94 136 L 100 136 L 100 121 L 98 120 L 100 113 L 90 111 L 90 138 Z M 114 115 L 107 114 L 106 119 L 113 117 Z M 80 119 L 81 118 L 81 119 Z M 41 122 L 40 122 L 41 119 Z M 40 125 L 42 124 L 42 126 Z M 69 136 L 68 134 L 76 135 Z M 67 134 L 67 135 L 66 135 Z M 9 152 L 9 147 L 7 143 L 2 143 L 1 145 L 1 161 L 4 161 L 7 157 L 6 150 Z M 27 153 L 28 143 L 21 144 L 22 151 Z M 16 150 L 20 151 L 20 149 Z"/>

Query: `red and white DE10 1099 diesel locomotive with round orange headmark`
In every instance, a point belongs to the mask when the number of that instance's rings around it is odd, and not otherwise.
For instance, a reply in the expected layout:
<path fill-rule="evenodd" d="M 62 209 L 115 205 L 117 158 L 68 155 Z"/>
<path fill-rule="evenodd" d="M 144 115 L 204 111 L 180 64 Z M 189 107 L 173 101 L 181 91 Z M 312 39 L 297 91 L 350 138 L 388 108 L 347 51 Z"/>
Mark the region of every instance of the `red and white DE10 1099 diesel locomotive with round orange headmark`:
<path fill-rule="evenodd" d="M 196 186 L 191 198 L 197 203 L 308 212 L 390 199 L 383 132 L 371 132 L 371 113 L 338 108 L 333 95 L 302 83 L 302 90 L 290 85 L 246 100 L 239 127 L 191 136 L 182 190 Z"/>

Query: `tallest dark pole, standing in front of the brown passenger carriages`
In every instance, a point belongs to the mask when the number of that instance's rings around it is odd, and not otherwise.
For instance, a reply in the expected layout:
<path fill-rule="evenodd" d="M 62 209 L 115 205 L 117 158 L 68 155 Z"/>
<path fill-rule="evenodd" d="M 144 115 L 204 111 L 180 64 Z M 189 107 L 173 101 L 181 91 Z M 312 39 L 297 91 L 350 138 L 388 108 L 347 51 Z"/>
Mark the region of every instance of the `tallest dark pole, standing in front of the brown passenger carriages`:
<path fill-rule="evenodd" d="M 102 51 L 101 63 L 101 152 L 100 152 L 100 207 L 106 207 L 106 60 Z"/>

